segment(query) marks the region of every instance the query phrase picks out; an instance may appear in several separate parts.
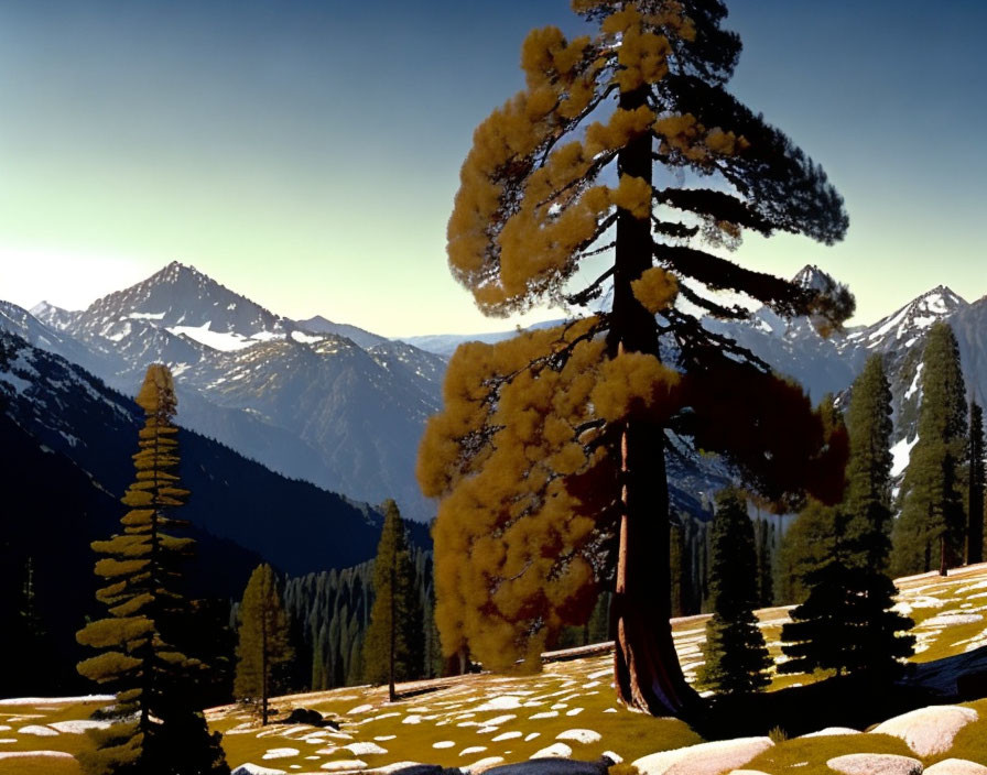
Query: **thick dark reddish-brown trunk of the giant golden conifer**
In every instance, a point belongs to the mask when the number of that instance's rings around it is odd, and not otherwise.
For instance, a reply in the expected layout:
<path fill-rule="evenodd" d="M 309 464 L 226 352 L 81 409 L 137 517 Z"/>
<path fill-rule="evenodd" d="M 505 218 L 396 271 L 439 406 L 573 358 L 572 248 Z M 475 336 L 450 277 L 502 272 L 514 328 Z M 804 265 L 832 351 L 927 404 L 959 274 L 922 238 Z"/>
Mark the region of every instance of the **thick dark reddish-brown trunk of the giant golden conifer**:
<path fill-rule="evenodd" d="M 647 90 L 622 94 L 620 107 L 646 105 Z M 620 174 L 651 182 L 651 135 L 629 143 L 617 160 Z M 634 298 L 631 283 L 652 266 L 649 219 L 618 209 L 611 356 L 659 356 L 654 316 Z M 620 699 L 652 716 L 681 716 L 697 701 L 685 683 L 672 642 L 669 577 L 669 493 L 664 429 L 642 421 L 626 424 L 621 438 L 623 515 L 611 607 L 616 648 L 614 683 Z"/>

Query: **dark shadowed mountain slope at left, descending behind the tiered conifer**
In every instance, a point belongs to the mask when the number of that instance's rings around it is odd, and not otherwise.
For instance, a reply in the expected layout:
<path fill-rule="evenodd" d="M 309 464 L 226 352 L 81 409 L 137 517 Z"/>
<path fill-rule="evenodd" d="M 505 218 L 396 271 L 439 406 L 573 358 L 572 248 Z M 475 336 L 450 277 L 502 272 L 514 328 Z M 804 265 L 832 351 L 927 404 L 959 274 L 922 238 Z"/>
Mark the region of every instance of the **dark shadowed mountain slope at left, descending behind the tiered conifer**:
<path fill-rule="evenodd" d="M 116 501 L 133 477 L 130 457 L 142 412 L 82 368 L 14 335 L 0 330 L 0 348 L 2 415 L 19 428 L 19 437 L 53 459 L 70 461 L 111 499 L 90 539 L 105 534 L 106 520 L 112 525 L 122 515 Z M 178 417 L 183 411 L 180 400 Z M 193 493 L 183 516 L 202 534 L 231 542 L 251 561 L 262 556 L 293 575 L 346 567 L 376 553 L 381 517 L 366 504 L 273 473 L 194 432 L 183 429 L 178 439 L 182 481 Z M 4 441 L 12 443 L 7 436 Z M 33 493 L 8 484 L 14 513 L 30 513 Z M 74 509 L 68 502 L 64 506 Z M 414 537 L 424 543 L 424 528 L 416 527 Z M 88 556 L 85 547 L 79 554 Z M 224 561 L 215 565 L 217 577 L 232 572 Z M 239 590 L 239 580 L 234 583 Z"/>

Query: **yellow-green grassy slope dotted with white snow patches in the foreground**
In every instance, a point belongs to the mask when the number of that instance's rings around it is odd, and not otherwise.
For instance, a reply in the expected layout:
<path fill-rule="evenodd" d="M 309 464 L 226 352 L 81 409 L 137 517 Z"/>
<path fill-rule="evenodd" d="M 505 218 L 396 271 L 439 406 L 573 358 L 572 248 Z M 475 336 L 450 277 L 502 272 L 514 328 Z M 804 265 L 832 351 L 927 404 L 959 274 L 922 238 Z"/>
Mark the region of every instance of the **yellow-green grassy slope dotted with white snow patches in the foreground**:
<path fill-rule="evenodd" d="M 899 581 L 900 605 L 915 622 L 920 652 L 916 662 L 928 662 L 987 645 L 987 565 L 937 576 Z M 981 619 L 962 623 L 956 615 Z M 761 626 L 780 656 L 778 637 L 785 609 L 760 612 Z M 953 621 L 951 621 L 953 620 Z M 676 645 L 686 675 L 702 663 L 702 616 L 674 622 Z M 394 762 L 431 762 L 468 766 L 489 757 L 523 761 L 556 742 L 570 730 L 590 730 L 598 742 L 564 741 L 575 758 L 592 760 L 612 751 L 628 761 L 655 751 L 699 742 L 684 723 L 652 719 L 617 706 L 610 687 L 609 656 L 593 656 L 546 665 L 538 676 L 468 676 L 440 683 L 441 688 L 413 699 L 388 703 L 380 688 L 349 688 L 315 695 L 282 698 L 279 709 L 315 708 L 343 724 L 339 733 L 308 727 L 272 727 L 260 730 L 241 708 L 217 708 L 209 712 L 212 725 L 225 733 L 224 744 L 231 765 L 253 762 L 288 773 L 326 772 L 323 765 L 359 760 L 369 767 Z M 818 676 L 776 677 L 772 688 L 809 683 Z M 65 751 L 77 753 L 88 744 L 84 734 L 34 736 L 19 733 L 26 724 L 87 718 L 99 703 L 0 706 L 0 753 L 4 751 Z M 958 756 L 987 762 L 987 699 L 970 703 L 981 720 L 957 734 L 950 752 L 924 763 Z M 547 713 L 549 716 L 541 716 Z M 540 716 L 541 718 L 533 718 Z M 499 739 L 498 739 L 499 738 Z M 373 743 L 386 753 L 354 754 L 344 746 Z M 448 745 L 452 743 L 452 745 Z M 438 744 L 438 747 L 436 747 Z M 264 760 L 275 749 L 297 754 Z M 473 751 L 467 751 L 474 749 Z M 482 750 L 478 750 L 482 749 Z M 465 753 L 464 753 L 465 752 Z M 910 754 L 904 743 L 886 735 L 847 735 L 784 741 L 751 762 L 750 768 L 771 775 L 829 775 L 825 762 L 843 753 L 872 752 Z M 76 775 L 72 761 L 53 758 L 0 758 L 0 775 Z"/>

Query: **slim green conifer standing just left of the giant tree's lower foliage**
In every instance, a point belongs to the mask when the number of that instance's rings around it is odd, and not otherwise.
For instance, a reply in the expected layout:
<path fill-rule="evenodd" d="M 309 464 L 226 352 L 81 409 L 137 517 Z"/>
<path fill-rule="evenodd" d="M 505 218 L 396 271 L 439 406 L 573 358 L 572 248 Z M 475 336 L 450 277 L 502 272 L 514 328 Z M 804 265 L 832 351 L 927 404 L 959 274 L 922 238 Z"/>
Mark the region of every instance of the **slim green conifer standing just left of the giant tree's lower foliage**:
<path fill-rule="evenodd" d="M 397 680 L 417 678 L 423 662 L 422 612 L 401 512 L 383 504 L 384 521 L 373 560 L 373 608 L 364 641 L 364 678 L 388 684 L 391 702 Z"/>

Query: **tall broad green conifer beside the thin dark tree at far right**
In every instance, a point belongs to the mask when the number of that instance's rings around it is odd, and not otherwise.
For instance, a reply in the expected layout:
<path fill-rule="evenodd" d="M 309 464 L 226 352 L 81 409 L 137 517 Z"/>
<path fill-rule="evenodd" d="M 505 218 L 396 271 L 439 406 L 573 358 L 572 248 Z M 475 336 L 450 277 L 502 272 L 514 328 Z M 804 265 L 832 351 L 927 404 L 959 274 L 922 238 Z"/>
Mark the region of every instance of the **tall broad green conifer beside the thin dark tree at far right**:
<path fill-rule="evenodd" d="M 946 323 L 929 329 L 922 357 L 919 439 L 901 487 L 901 515 L 893 531 L 894 576 L 961 563 L 966 534 L 966 386 L 959 346 Z"/>

